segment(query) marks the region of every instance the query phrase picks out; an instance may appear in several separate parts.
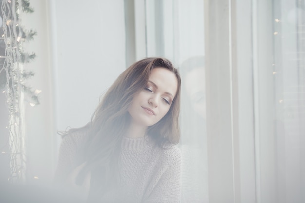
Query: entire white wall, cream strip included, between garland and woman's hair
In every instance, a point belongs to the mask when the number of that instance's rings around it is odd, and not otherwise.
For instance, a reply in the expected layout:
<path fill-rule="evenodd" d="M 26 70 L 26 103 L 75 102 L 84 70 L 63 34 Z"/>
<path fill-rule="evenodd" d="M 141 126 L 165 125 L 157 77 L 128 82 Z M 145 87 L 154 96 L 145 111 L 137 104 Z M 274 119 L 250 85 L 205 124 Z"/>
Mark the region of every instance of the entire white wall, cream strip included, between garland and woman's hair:
<path fill-rule="evenodd" d="M 25 49 L 36 59 L 28 83 L 42 90 L 40 105 L 26 104 L 29 179 L 49 181 L 57 162 L 57 130 L 90 121 L 99 98 L 125 67 L 123 0 L 31 0 L 22 24 L 37 31 Z M 34 179 L 33 179 L 34 180 Z M 37 181 L 37 180 L 35 180 Z"/>

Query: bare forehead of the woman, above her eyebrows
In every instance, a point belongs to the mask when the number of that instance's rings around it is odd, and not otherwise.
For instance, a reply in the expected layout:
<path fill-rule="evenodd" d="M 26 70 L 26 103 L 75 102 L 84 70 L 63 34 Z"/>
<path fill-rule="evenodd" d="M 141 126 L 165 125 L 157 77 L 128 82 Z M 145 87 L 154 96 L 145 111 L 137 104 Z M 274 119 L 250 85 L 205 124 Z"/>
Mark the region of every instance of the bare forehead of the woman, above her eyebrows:
<path fill-rule="evenodd" d="M 177 93 L 178 80 L 174 73 L 166 68 L 154 68 L 149 76 L 149 80 L 158 86 L 161 92 L 169 92 L 173 96 Z"/>

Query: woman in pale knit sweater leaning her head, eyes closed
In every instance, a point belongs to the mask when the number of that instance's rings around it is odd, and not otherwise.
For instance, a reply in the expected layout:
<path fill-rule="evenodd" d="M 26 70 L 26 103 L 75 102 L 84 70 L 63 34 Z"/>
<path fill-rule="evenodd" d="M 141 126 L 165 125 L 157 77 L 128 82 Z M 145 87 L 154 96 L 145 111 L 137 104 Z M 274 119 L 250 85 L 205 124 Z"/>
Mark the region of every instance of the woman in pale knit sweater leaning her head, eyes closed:
<path fill-rule="evenodd" d="M 181 154 L 178 71 L 163 58 L 126 69 L 91 122 L 64 134 L 55 179 L 79 185 L 88 200 L 179 203 Z"/>

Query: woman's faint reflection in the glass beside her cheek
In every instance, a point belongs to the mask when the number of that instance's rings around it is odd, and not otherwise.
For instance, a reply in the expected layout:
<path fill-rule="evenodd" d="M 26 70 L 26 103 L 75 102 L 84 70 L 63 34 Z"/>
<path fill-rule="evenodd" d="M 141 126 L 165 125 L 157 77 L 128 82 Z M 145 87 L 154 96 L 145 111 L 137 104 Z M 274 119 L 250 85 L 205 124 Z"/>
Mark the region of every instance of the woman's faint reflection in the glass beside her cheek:
<path fill-rule="evenodd" d="M 208 202 L 204 57 L 181 64 L 182 201 Z"/>

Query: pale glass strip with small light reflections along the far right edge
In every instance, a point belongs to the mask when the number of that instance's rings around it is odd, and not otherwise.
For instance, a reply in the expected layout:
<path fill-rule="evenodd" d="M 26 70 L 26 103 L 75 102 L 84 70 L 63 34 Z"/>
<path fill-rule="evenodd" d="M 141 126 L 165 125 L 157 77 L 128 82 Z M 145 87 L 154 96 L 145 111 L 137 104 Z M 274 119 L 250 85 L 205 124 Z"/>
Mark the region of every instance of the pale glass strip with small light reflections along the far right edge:
<path fill-rule="evenodd" d="M 276 0 L 274 91 L 278 202 L 305 202 L 304 0 Z"/>

